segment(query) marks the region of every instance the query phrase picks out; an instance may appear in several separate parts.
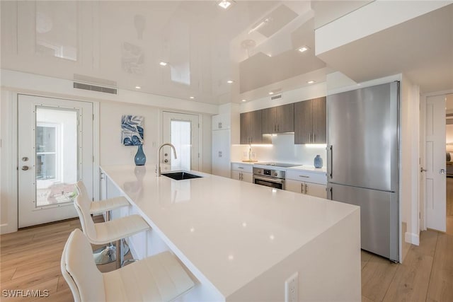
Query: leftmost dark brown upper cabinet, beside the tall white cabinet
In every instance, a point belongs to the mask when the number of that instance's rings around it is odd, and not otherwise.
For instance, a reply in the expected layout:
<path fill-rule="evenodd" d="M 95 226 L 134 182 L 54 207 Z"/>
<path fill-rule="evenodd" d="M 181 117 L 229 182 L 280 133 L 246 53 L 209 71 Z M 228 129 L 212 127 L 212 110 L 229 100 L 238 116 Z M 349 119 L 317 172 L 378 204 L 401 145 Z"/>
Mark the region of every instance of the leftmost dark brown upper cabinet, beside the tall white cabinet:
<path fill-rule="evenodd" d="M 270 137 L 261 132 L 261 111 L 241 113 L 241 144 L 270 144 Z"/>

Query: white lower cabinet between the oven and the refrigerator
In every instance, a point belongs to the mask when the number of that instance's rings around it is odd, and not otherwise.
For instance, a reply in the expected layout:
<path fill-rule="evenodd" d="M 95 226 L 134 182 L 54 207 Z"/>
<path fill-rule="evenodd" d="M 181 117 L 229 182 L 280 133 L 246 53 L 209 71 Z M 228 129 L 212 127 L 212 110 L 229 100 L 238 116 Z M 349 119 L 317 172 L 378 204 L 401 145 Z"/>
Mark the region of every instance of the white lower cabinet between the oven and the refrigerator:
<path fill-rule="evenodd" d="M 310 180 L 310 181 L 307 181 Z M 287 170 L 286 190 L 327 198 L 327 176 L 302 170 Z"/>

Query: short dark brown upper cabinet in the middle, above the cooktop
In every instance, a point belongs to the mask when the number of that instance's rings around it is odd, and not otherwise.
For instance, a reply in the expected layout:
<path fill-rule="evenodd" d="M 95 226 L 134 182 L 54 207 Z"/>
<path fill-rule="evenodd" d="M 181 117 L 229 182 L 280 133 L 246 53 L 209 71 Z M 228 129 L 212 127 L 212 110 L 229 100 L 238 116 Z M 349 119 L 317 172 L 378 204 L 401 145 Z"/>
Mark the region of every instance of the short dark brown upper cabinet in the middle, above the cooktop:
<path fill-rule="evenodd" d="M 294 103 L 262 111 L 263 134 L 294 132 Z"/>

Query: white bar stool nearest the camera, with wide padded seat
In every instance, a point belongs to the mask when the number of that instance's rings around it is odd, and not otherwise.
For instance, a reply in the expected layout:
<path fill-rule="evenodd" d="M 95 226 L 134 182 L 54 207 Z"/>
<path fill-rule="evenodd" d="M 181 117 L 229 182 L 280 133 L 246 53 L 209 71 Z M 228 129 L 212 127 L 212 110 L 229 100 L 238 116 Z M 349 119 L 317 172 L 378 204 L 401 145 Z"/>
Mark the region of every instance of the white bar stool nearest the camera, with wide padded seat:
<path fill-rule="evenodd" d="M 61 269 L 74 301 L 171 301 L 195 285 L 171 252 L 101 273 L 91 246 L 76 228 L 64 245 Z"/>

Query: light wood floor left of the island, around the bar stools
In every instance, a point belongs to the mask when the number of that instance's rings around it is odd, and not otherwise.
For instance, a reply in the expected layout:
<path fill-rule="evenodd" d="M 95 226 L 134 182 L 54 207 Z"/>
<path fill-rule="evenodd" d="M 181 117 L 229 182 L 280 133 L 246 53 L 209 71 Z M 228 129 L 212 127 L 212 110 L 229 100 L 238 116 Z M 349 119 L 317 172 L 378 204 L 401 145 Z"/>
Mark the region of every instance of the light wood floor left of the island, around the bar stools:
<path fill-rule="evenodd" d="M 103 221 L 97 216 L 94 221 Z M 60 271 L 64 243 L 79 219 L 26 228 L 0 236 L 0 301 L 73 301 Z M 93 245 L 93 249 L 99 246 Z M 115 269 L 115 263 L 99 265 L 101 272 Z M 49 297 L 6 298 L 4 289 L 49 291 Z"/>

